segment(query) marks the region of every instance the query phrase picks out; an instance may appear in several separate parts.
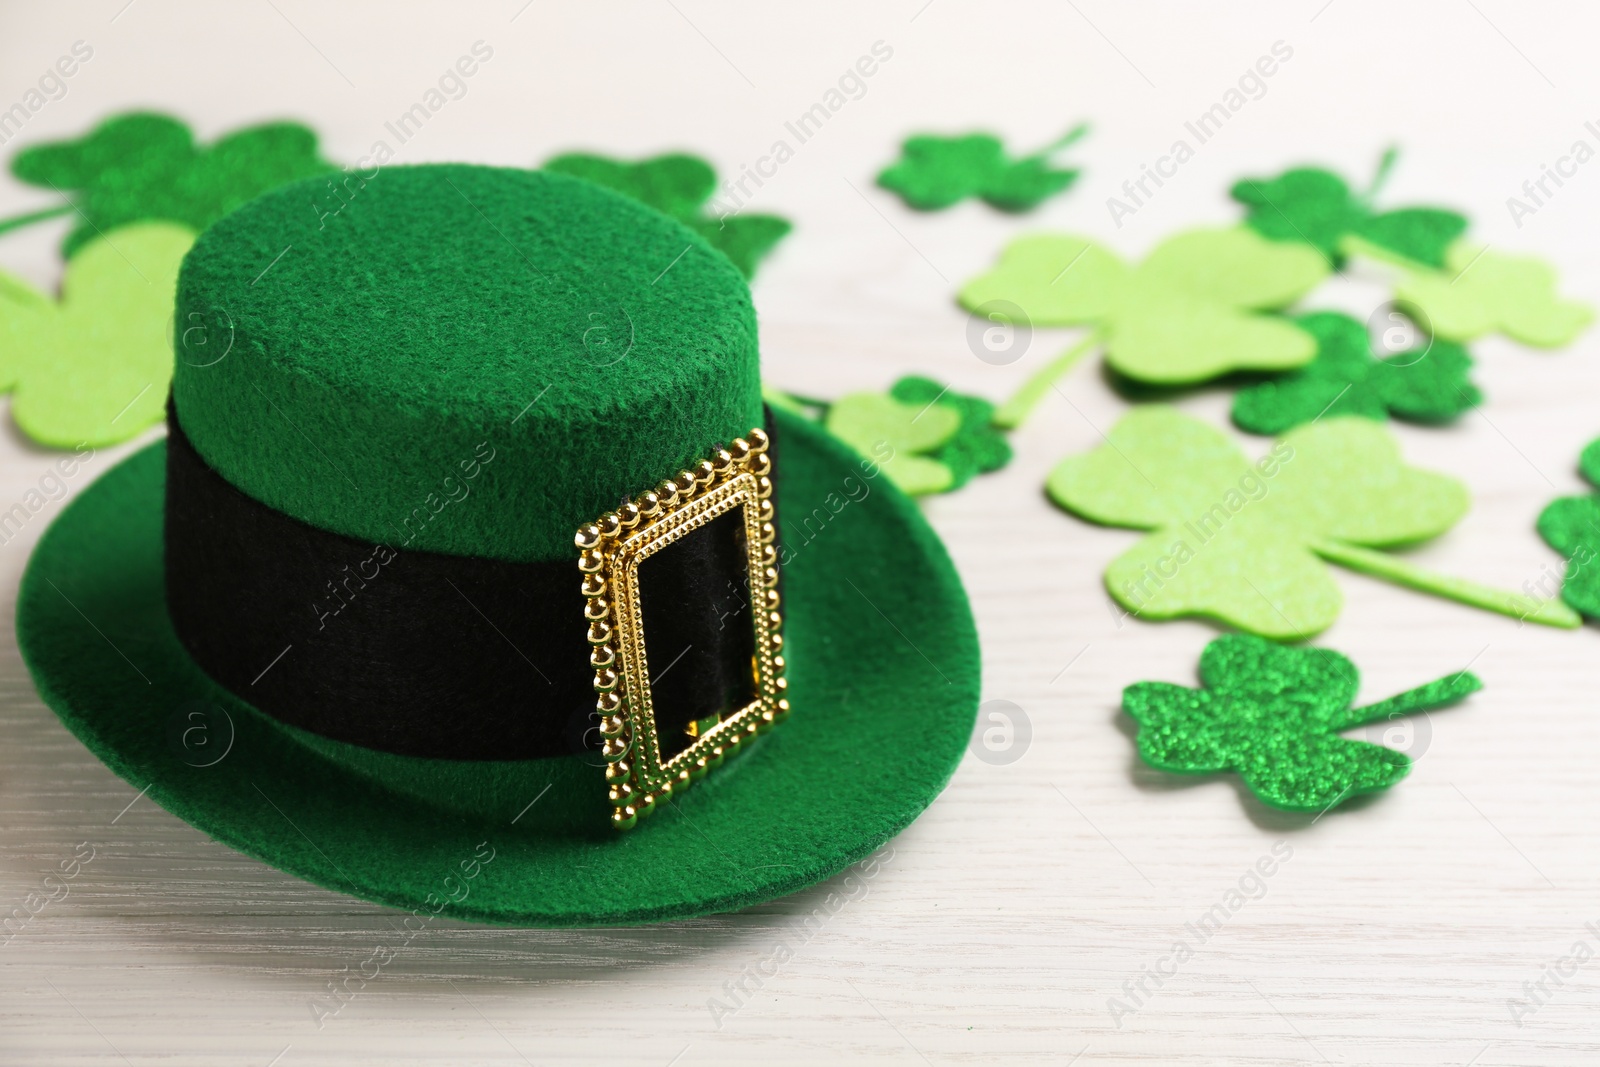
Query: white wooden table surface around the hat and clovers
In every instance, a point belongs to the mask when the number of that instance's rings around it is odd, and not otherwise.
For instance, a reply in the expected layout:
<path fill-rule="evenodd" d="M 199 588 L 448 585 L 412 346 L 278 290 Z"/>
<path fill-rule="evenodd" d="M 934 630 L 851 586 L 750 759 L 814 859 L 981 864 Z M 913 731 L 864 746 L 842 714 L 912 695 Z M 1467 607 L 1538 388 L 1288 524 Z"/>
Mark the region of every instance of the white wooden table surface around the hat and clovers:
<path fill-rule="evenodd" d="M 1040 331 L 1010 366 L 974 358 L 952 293 L 1010 237 L 1069 229 L 1138 256 L 1176 229 L 1237 219 L 1235 178 L 1320 162 L 1365 184 L 1389 144 L 1403 154 L 1386 203 L 1456 206 L 1496 250 L 1547 256 L 1570 294 L 1600 301 L 1600 162 L 1520 229 L 1506 208 L 1574 139 L 1597 144 L 1584 122 L 1600 120 L 1600 27 L 1576 5 L 1294 0 L 1224 14 L 1106 0 L 760 11 L 533 0 L 518 14 L 523 0 L 123 2 L 3 5 L 0 107 L 72 42 L 94 48 L 13 147 L 154 107 L 205 139 L 299 118 L 331 158 L 354 162 L 482 38 L 493 59 L 400 162 L 526 166 L 574 147 L 682 147 L 726 174 L 885 42 L 893 58 L 866 94 L 750 205 L 795 222 L 755 301 L 765 374 L 798 392 L 882 389 L 922 371 L 1002 398 L 1070 338 Z M 1278 40 L 1294 54 L 1269 91 L 1114 227 L 1106 198 Z M 1029 149 L 1083 118 L 1093 136 L 1070 154 L 1083 179 L 1034 216 L 979 203 L 917 216 L 872 184 L 912 131 L 989 128 Z M 48 203 L 0 178 L 0 214 Z M 53 286 L 64 226 L 0 238 L 0 269 Z M 1317 302 L 1365 317 L 1384 294 L 1379 278 L 1355 277 Z M 1506 587 L 1558 565 L 1533 520 L 1581 490 L 1578 451 L 1600 434 L 1597 350 L 1600 331 L 1560 354 L 1483 341 L 1483 413 L 1397 429 L 1411 462 L 1474 491 L 1467 518 L 1414 552 L 1419 563 Z M 1594 1062 L 1600 963 L 1525 1025 L 1507 1001 L 1576 941 L 1600 950 L 1584 928 L 1600 920 L 1595 630 L 1518 627 L 1341 573 L 1346 611 L 1320 643 L 1362 667 L 1363 702 L 1467 664 L 1486 685 L 1418 728 L 1405 782 L 1312 825 L 1243 800 L 1227 779 L 1141 769 L 1122 688 L 1192 683 L 1216 630 L 1118 625 L 1099 573 L 1134 534 L 1069 518 L 1040 486 L 1125 402 L 1091 365 L 1062 392 L 1014 435 L 1011 467 L 926 507 L 973 597 L 984 696 L 1024 709 L 1029 747 L 1010 765 L 968 755 L 866 897 L 720 1029 L 707 1000 L 726 998 L 723 984 L 765 960 L 829 886 L 653 929 L 435 925 L 318 1030 L 307 1001 L 390 936 L 394 913 L 238 856 L 149 800 L 128 808 L 138 789 L 38 702 L 0 624 L 0 910 L 77 841 L 98 849 L 70 896 L 0 947 L 0 1062 Z M 1221 424 L 1227 400 L 1181 405 Z M 54 456 L 8 419 L 0 435 L 10 504 Z M 102 453 L 74 491 L 123 451 Z M 40 515 L 0 547 L 6 621 L 45 525 Z M 1266 896 L 1117 1025 L 1109 998 L 1280 840 L 1293 857 Z"/>

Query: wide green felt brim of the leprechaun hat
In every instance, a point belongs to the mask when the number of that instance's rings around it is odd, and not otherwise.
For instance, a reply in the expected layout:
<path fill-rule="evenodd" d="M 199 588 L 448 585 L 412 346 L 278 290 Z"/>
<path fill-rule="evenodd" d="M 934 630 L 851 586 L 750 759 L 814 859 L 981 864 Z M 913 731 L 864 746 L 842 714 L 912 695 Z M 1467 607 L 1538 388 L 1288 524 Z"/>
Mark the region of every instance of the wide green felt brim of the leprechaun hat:
<path fill-rule="evenodd" d="M 866 857 L 933 801 L 968 744 L 979 686 L 966 595 L 917 506 L 816 426 L 776 418 L 795 710 L 629 833 L 605 825 L 598 755 L 373 752 L 216 685 L 166 614 L 165 442 L 109 470 L 45 533 L 18 641 L 45 702 L 112 771 L 320 886 L 526 926 L 768 901 Z"/>

